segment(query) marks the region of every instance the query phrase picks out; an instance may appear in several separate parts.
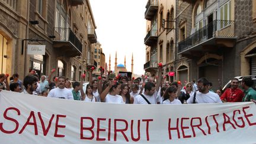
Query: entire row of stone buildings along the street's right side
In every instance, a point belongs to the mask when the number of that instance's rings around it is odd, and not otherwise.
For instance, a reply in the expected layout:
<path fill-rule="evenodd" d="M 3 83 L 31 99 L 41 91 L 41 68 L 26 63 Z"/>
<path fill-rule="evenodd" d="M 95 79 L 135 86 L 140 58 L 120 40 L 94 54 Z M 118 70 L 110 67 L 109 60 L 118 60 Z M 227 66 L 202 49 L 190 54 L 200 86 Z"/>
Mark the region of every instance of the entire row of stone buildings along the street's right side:
<path fill-rule="evenodd" d="M 169 26 L 163 21 L 169 20 L 166 14 L 170 4 L 154 2 L 148 1 L 150 7 L 145 12 L 146 74 L 155 75 L 157 65 L 152 65 L 153 61 L 162 62 L 165 75 L 175 72 L 168 81 L 184 84 L 206 77 L 214 90 L 235 76 L 256 75 L 256 1 L 176 0 L 175 24 L 171 30 L 174 34 L 165 28 L 161 30 L 162 25 Z M 152 27 L 155 21 L 157 29 Z M 156 33 L 152 33 L 153 28 Z M 174 40 L 173 58 L 167 55 L 168 40 Z"/>

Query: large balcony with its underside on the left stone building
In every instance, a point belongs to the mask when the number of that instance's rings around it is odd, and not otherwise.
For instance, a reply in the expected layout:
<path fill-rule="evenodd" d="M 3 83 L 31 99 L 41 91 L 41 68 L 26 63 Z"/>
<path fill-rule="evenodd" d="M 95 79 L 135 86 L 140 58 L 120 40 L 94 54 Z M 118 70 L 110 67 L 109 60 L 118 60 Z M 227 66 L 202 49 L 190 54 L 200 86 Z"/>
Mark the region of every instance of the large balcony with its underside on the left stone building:
<path fill-rule="evenodd" d="M 53 47 L 57 56 L 75 57 L 82 54 L 82 43 L 70 28 L 55 27 Z"/>

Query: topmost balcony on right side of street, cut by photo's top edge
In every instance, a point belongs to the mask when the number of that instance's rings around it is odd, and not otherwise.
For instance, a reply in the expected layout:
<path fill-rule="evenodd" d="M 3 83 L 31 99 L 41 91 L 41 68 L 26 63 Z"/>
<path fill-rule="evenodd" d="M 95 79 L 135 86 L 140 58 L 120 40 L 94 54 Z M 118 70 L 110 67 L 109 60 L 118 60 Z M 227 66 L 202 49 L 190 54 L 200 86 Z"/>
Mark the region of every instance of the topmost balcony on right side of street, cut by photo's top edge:
<path fill-rule="evenodd" d="M 158 11 L 158 0 L 148 0 L 146 4 L 145 18 L 146 20 L 151 21 L 153 16 Z"/>

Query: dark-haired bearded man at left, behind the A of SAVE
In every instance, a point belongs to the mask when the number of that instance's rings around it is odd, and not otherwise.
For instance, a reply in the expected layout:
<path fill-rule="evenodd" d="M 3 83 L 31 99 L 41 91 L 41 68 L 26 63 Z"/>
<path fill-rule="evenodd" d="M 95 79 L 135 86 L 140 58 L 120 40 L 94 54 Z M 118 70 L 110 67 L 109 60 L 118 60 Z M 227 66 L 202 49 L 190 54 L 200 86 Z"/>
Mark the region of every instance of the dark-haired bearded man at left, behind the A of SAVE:
<path fill-rule="evenodd" d="M 23 80 L 23 85 L 25 87 L 23 93 L 24 94 L 33 94 L 33 91 L 37 89 L 37 78 L 34 75 L 25 76 Z"/>

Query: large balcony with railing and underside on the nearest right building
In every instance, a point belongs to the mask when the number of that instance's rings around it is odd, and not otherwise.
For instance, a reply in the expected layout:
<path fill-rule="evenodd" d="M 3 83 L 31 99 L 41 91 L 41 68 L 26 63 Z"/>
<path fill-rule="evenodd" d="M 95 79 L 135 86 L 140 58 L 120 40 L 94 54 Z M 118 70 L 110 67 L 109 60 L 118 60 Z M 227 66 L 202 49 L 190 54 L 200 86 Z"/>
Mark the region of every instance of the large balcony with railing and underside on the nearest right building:
<path fill-rule="evenodd" d="M 178 43 L 178 54 L 191 58 L 233 47 L 236 41 L 235 21 L 215 20 Z"/>

